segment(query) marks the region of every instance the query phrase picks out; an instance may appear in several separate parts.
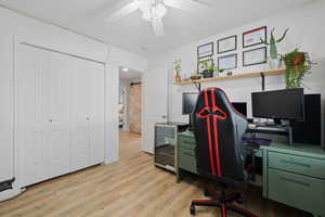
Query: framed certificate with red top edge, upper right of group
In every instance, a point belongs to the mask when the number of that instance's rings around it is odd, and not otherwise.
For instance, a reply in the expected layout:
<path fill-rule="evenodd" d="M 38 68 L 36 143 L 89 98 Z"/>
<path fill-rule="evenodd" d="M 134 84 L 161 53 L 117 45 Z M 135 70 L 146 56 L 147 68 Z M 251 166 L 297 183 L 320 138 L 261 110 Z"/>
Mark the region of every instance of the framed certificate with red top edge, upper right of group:
<path fill-rule="evenodd" d="M 246 31 L 243 34 L 243 48 L 261 44 L 261 39 L 266 41 L 266 26 Z"/>

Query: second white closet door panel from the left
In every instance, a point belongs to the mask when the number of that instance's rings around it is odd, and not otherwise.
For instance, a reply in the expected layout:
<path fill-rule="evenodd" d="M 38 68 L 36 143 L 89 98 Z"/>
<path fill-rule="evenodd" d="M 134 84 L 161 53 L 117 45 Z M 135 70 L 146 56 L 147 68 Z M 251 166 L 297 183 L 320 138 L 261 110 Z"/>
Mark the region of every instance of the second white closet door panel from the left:
<path fill-rule="evenodd" d="M 47 52 L 46 56 L 48 56 L 44 93 L 47 95 L 49 171 L 51 177 L 56 177 L 69 171 L 72 67 L 67 55 Z"/>

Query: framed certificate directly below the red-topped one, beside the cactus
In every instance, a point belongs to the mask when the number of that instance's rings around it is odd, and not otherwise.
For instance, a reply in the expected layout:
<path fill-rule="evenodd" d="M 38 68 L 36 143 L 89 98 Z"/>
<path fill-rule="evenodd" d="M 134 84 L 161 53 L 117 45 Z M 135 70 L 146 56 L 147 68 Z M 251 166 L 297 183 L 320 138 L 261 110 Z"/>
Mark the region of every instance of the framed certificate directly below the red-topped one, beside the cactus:
<path fill-rule="evenodd" d="M 266 47 L 243 52 L 243 66 L 263 64 L 268 62 Z"/>

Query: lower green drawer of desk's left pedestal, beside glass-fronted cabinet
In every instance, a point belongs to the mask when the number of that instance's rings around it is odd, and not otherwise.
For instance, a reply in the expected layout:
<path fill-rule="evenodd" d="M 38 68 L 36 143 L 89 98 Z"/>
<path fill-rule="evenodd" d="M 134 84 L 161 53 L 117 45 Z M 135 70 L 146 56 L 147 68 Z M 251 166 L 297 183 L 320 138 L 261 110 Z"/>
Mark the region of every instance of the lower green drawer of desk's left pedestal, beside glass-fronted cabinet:
<path fill-rule="evenodd" d="M 193 174 L 197 174 L 194 151 L 182 148 L 180 148 L 179 151 L 179 167 Z"/>

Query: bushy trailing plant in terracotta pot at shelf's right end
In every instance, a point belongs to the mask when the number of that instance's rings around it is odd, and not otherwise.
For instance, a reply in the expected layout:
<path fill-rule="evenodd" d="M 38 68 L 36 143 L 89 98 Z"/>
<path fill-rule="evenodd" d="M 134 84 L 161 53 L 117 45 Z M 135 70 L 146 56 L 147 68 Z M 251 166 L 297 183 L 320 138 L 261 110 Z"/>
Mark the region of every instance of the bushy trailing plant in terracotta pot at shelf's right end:
<path fill-rule="evenodd" d="M 286 66 L 286 88 L 299 88 L 306 74 L 310 73 L 312 64 L 309 53 L 295 49 L 292 52 L 283 55 Z"/>

